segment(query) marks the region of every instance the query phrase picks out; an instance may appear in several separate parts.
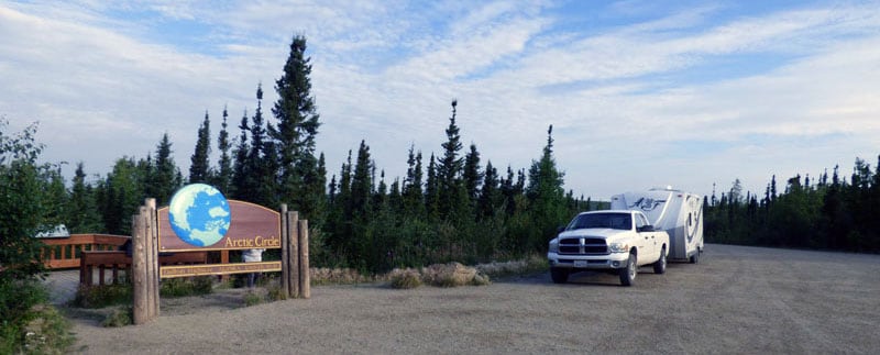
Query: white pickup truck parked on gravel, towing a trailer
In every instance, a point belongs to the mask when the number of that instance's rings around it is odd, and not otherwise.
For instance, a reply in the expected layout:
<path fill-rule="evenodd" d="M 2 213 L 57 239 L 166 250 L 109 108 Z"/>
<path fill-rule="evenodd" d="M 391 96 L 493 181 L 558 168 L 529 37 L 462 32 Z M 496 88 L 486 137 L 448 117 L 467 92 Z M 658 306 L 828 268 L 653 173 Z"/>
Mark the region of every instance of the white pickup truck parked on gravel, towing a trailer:
<path fill-rule="evenodd" d="M 631 286 L 640 266 L 666 273 L 668 254 L 669 234 L 650 225 L 644 213 L 608 210 L 578 214 L 550 241 L 547 258 L 556 284 L 566 282 L 572 273 L 595 269 L 617 274 L 622 285 Z"/>

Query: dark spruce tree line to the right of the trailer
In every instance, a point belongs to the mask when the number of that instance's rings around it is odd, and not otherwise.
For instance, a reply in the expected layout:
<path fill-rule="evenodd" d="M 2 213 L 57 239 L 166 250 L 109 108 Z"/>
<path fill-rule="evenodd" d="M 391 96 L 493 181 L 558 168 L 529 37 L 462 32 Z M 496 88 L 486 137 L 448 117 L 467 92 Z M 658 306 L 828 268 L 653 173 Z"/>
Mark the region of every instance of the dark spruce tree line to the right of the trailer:
<path fill-rule="evenodd" d="M 708 242 L 880 253 L 880 156 L 873 171 L 856 158 L 849 178 L 835 166 L 791 177 L 782 191 L 773 176 L 763 196 L 743 196 L 737 179 L 704 207 Z"/>

